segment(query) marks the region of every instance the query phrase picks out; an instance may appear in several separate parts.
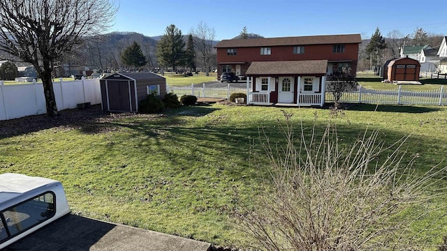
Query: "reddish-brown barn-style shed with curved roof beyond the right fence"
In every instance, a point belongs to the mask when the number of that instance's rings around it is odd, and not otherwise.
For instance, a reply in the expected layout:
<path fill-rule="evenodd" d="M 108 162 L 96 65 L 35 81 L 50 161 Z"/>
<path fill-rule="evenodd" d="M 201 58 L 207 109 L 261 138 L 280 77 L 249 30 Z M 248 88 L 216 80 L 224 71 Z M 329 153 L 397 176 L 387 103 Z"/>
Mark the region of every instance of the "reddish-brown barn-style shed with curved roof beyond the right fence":
<path fill-rule="evenodd" d="M 383 68 L 383 79 L 387 82 L 419 81 L 420 63 L 416 59 L 392 59 L 387 61 Z"/>

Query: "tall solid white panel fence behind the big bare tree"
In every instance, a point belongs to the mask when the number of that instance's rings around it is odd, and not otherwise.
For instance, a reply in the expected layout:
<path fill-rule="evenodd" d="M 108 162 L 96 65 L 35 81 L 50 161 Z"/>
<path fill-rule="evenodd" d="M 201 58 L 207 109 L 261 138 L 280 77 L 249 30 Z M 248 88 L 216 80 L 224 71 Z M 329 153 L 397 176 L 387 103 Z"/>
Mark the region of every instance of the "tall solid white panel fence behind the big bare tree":
<path fill-rule="evenodd" d="M 53 82 L 57 109 L 73 109 L 78 104 L 90 102 L 101 104 L 99 79 L 82 79 Z M 23 116 L 45 114 L 43 84 L 8 84 L 0 81 L 0 120 L 16 119 Z"/>

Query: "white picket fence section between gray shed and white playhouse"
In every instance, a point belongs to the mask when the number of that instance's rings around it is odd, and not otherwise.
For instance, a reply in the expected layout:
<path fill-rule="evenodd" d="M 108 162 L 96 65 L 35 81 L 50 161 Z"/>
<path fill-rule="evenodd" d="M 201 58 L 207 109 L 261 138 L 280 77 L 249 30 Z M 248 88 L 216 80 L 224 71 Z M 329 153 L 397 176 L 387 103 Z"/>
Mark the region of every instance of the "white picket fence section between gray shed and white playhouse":
<path fill-rule="evenodd" d="M 227 98 L 233 93 L 247 93 L 247 88 L 232 87 L 230 84 L 226 87 L 210 87 L 203 84 L 201 87 L 194 86 L 170 86 L 166 84 L 166 92 L 174 93 L 179 98 L 183 95 L 192 95 L 197 98 Z"/>

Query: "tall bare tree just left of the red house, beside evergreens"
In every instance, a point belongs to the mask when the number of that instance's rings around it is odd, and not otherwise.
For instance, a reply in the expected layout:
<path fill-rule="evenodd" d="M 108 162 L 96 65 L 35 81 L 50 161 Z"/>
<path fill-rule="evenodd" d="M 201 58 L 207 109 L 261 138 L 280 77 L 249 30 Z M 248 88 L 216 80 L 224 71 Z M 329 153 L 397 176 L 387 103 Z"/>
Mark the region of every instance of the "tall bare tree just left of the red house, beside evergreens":
<path fill-rule="evenodd" d="M 204 22 L 200 22 L 196 29 L 191 29 L 190 33 L 194 38 L 194 46 L 198 52 L 198 58 L 203 63 L 202 70 L 205 70 L 207 76 L 210 75 L 210 59 L 214 52 L 213 40 L 216 37 L 216 31 L 214 28 L 208 26 Z"/>

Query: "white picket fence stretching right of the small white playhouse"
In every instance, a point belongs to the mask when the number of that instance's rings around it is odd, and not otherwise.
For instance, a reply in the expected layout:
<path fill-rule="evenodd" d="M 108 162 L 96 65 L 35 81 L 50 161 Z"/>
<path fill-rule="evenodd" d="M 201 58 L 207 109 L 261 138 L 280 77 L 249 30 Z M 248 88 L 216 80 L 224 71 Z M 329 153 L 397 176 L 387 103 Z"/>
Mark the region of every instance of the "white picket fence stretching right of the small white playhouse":
<path fill-rule="evenodd" d="M 334 102 L 330 92 L 325 93 L 325 100 Z M 447 105 L 447 91 L 444 86 L 430 91 L 404 91 L 402 86 L 394 90 L 372 90 L 360 86 L 358 91 L 343 93 L 340 102 L 358 102 L 386 105 Z"/>

